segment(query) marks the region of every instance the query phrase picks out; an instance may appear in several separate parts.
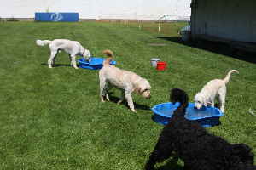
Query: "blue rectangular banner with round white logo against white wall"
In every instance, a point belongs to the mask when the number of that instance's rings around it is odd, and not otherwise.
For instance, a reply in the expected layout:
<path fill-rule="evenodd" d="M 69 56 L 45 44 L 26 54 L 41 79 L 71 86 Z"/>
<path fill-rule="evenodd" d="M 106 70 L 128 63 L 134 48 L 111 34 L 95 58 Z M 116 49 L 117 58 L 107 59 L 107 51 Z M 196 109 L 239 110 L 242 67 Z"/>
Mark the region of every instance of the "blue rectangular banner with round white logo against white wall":
<path fill-rule="evenodd" d="M 78 22 L 79 13 L 35 13 L 36 21 Z"/>

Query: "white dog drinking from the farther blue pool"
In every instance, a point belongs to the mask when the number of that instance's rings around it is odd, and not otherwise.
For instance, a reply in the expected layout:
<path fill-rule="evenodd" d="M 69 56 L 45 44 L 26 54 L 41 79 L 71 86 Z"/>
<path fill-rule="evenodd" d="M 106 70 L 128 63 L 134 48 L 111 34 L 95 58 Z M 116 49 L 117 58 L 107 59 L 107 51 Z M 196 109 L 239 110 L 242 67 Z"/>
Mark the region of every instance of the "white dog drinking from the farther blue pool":
<path fill-rule="evenodd" d="M 78 69 L 77 62 L 76 62 L 76 55 L 80 55 L 85 59 L 90 59 L 90 51 L 84 48 L 79 42 L 71 41 L 67 39 L 55 39 L 53 41 L 49 40 L 37 40 L 36 41 L 38 46 L 44 46 L 49 44 L 50 55 L 48 59 L 49 68 L 52 68 L 55 65 L 55 57 L 59 53 L 60 50 L 65 51 L 69 54 L 69 59 L 71 61 L 71 66 L 73 68 Z"/>

